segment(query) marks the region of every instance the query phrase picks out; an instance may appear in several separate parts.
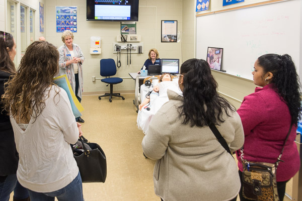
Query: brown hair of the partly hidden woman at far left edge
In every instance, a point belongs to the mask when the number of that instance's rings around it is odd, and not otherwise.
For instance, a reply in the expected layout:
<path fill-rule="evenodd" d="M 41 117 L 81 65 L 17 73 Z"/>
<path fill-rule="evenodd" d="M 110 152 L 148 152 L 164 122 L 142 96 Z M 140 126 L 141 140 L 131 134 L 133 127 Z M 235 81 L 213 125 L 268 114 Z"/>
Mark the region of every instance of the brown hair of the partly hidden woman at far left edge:
<path fill-rule="evenodd" d="M 0 70 L 15 74 L 16 67 L 12 59 L 9 55 L 9 48 L 10 50 L 13 49 L 14 37 L 12 34 L 0 31 Z"/>

